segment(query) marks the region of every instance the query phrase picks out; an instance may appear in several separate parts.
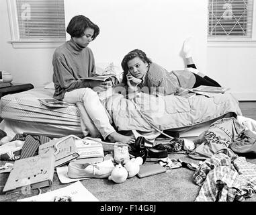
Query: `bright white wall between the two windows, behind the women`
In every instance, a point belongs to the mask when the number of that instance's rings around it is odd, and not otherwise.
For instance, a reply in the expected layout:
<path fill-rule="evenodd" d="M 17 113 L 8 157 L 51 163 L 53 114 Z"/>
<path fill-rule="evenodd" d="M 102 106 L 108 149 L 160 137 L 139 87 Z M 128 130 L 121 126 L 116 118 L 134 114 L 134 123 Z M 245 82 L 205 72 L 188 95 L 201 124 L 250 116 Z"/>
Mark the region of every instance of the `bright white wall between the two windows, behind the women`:
<path fill-rule="evenodd" d="M 183 40 L 194 37 L 194 61 L 206 69 L 207 1 L 65 0 L 65 19 L 83 14 L 100 28 L 89 45 L 96 62 L 120 63 L 134 48 L 168 70 L 183 69 Z M 67 38 L 70 38 L 67 34 Z"/>

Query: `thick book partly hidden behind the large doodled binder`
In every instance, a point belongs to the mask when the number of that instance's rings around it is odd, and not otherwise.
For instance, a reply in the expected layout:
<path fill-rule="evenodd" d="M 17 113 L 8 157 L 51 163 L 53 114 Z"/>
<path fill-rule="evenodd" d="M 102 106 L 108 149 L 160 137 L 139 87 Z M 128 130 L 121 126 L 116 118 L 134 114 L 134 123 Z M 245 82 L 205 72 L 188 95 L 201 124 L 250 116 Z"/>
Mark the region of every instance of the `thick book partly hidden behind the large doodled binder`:
<path fill-rule="evenodd" d="M 64 165 L 65 163 L 79 157 L 77 147 L 75 146 L 76 138 L 78 137 L 71 134 L 69 136 L 50 140 L 49 142 L 41 144 L 38 148 L 38 155 L 44 155 L 50 148 L 53 148 L 55 155 L 54 167 Z"/>

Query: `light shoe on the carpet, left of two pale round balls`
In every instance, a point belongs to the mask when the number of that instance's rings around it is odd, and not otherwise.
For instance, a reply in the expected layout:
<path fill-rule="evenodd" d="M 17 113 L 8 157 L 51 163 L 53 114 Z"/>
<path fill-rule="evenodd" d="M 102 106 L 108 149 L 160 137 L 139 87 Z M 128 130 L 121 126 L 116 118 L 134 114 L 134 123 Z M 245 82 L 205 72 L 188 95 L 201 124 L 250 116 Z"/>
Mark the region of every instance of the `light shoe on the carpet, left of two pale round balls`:
<path fill-rule="evenodd" d="M 101 163 L 69 163 L 68 176 L 72 179 L 80 177 L 109 177 L 114 169 L 114 164 L 111 160 L 102 161 Z"/>

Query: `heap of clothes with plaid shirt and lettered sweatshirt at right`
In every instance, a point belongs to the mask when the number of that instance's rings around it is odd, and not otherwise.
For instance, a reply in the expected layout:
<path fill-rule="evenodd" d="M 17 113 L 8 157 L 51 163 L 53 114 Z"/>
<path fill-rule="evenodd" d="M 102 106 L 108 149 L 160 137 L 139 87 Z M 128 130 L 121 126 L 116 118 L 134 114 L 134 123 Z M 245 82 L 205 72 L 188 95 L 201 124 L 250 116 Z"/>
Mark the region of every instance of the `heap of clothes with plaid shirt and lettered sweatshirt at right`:
<path fill-rule="evenodd" d="M 256 121 L 243 116 L 211 124 L 189 153 L 202 160 L 193 179 L 201 186 L 196 201 L 244 201 L 256 192 Z M 195 142 L 196 142 L 195 141 Z"/>

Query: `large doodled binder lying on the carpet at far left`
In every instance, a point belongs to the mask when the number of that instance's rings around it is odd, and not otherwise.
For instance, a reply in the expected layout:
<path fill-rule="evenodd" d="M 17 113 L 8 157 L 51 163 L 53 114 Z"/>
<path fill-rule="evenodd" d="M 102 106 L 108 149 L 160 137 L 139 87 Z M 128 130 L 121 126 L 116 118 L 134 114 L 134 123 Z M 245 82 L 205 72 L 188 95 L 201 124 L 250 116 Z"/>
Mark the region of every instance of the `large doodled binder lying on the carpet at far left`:
<path fill-rule="evenodd" d="M 26 192 L 30 189 L 52 185 L 54 174 L 54 154 L 49 150 L 45 155 L 37 155 L 14 162 L 13 170 L 3 187 L 4 193 Z"/>

